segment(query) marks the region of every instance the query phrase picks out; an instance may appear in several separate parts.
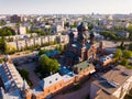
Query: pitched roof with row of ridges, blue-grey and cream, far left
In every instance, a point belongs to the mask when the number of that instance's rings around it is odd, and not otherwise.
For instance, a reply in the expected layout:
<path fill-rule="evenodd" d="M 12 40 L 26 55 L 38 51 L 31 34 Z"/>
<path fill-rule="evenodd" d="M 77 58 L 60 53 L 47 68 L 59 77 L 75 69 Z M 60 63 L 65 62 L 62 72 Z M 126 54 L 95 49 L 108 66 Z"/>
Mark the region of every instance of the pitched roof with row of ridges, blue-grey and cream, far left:
<path fill-rule="evenodd" d="M 4 84 L 6 90 L 22 88 L 23 79 L 15 69 L 13 64 L 2 64 L 0 65 L 0 77 Z"/>

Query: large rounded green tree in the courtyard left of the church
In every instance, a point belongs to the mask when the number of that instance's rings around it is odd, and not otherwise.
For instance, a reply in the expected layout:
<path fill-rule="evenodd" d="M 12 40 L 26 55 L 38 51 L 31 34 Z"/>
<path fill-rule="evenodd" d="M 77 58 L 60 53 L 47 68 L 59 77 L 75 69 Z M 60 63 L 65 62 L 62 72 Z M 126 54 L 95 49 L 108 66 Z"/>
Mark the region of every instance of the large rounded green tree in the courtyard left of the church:
<path fill-rule="evenodd" d="M 58 62 L 47 57 L 46 55 L 41 55 L 40 66 L 42 73 L 45 74 L 56 73 L 58 70 Z"/>

